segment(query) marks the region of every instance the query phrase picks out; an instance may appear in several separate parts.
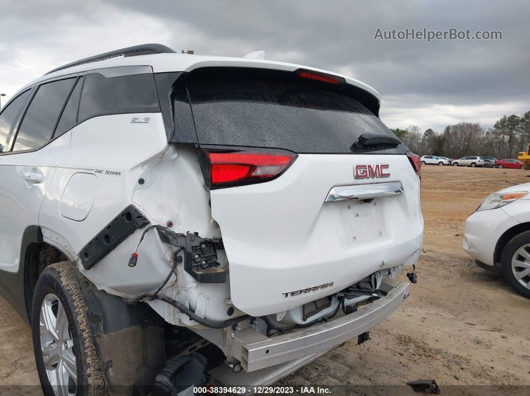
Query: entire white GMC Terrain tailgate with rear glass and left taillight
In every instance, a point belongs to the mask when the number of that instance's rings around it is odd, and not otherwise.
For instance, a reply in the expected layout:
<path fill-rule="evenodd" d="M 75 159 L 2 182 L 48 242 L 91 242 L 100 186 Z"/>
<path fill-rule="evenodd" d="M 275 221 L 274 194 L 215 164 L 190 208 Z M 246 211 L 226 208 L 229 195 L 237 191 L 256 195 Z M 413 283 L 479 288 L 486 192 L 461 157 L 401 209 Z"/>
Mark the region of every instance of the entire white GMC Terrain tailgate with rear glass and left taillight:
<path fill-rule="evenodd" d="M 419 254 L 420 183 L 407 148 L 363 105 L 366 93 L 319 77 L 227 69 L 187 84 L 232 301 L 252 315 Z M 368 133 L 374 144 L 361 144 Z M 341 200 L 389 183 L 391 196 Z"/>

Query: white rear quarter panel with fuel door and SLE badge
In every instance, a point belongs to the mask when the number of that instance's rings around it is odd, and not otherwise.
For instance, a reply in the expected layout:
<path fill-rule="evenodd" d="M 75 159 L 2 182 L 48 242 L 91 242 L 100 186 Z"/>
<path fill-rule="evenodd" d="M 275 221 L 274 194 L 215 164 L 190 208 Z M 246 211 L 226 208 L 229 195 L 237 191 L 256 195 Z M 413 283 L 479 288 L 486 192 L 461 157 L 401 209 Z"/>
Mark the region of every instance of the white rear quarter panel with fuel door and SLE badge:
<path fill-rule="evenodd" d="M 150 120 L 131 123 L 133 117 L 149 117 Z M 58 163 L 42 204 L 39 225 L 45 242 L 59 244 L 71 260 L 77 261 L 81 248 L 131 204 L 137 189 L 146 186 L 148 162 L 156 156 L 160 159 L 167 143 L 160 113 L 94 117 L 74 127 L 71 134 L 72 144 Z M 140 178 L 144 179 L 143 185 L 138 183 Z M 90 190 L 79 185 L 80 180 L 89 180 Z M 134 251 L 133 245 L 138 242 L 138 238 L 136 242 L 132 239 L 120 245 L 122 249 L 127 246 L 128 254 L 111 252 L 92 270 L 86 271 L 86 277 L 110 289 L 121 289 L 120 284 L 127 283 L 129 288 L 126 289 L 130 292 L 154 287 L 160 277 L 163 279 L 165 269 L 142 271 L 136 268 L 132 273 L 122 272 L 130 269 L 127 262 Z M 156 256 L 160 252 L 153 254 Z"/>

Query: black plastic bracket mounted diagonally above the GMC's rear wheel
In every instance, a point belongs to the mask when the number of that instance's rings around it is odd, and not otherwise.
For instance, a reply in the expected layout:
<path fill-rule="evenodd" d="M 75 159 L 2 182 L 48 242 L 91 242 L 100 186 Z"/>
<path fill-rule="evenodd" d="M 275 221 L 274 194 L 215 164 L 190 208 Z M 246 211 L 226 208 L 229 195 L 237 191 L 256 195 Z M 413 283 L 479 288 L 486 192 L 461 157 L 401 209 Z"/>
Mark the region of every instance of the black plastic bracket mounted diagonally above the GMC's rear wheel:
<path fill-rule="evenodd" d="M 149 220 L 134 205 L 126 207 L 82 248 L 80 258 L 83 268 L 90 270 L 129 235 L 147 224 Z"/>

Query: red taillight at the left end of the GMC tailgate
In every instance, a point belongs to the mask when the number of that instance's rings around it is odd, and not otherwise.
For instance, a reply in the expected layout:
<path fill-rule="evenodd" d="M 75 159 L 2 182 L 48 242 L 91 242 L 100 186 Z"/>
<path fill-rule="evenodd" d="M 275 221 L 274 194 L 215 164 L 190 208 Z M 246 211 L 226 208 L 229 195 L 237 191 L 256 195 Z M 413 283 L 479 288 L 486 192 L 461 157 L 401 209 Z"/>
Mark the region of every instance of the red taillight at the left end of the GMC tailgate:
<path fill-rule="evenodd" d="M 202 173 L 211 189 L 244 186 L 272 180 L 284 172 L 297 155 L 283 150 L 202 149 Z"/>

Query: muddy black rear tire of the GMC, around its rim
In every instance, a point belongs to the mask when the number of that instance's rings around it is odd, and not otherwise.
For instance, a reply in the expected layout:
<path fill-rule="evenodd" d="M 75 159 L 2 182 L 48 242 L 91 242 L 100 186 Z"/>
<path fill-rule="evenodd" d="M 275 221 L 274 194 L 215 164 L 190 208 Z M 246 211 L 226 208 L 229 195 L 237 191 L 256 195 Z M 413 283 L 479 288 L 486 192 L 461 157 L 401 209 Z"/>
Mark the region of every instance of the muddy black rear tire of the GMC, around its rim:
<path fill-rule="evenodd" d="M 33 349 L 44 394 L 55 395 L 45 368 L 40 336 L 41 306 L 50 294 L 56 297 L 64 308 L 68 320 L 68 335 L 73 342 L 72 351 L 75 355 L 77 385 L 71 385 L 71 388 L 69 385 L 68 391 L 78 396 L 105 394 L 103 373 L 86 317 L 87 306 L 81 295 L 76 273 L 67 261 L 52 264 L 43 270 L 33 293 L 31 309 Z M 54 341 L 51 342 L 53 343 Z"/>

